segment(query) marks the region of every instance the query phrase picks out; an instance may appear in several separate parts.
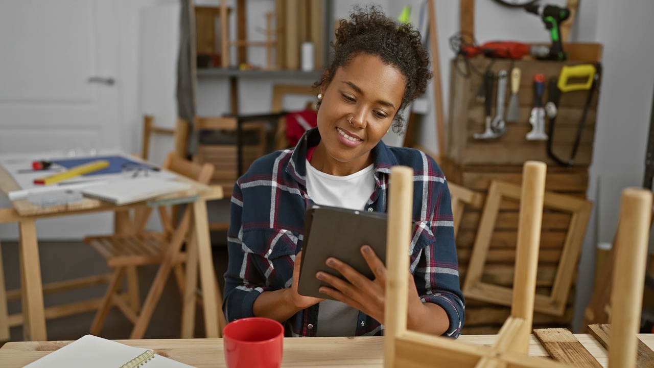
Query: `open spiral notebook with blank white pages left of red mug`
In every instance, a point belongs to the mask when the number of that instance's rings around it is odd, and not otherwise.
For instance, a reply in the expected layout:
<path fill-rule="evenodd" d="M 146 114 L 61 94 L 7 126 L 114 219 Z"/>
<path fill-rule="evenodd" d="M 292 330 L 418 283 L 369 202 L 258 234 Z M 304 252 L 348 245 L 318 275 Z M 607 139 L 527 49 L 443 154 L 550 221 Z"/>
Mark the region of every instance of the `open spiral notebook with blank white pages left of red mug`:
<path fill-rule="evenodd" d="M 194 368 L 153 350 L 86 335 L 24 368 Z"/>

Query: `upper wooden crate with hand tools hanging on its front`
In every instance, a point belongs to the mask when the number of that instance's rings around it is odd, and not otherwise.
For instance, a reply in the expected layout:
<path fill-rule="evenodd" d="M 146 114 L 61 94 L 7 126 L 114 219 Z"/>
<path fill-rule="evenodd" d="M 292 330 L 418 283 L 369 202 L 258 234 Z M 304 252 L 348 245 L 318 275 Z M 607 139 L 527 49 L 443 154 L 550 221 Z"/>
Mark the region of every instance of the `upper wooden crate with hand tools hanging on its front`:
<path fill-rule="evenodd" d="M 595 62 L 594 60 L 591 62 Z M 468 64 L 469 63 L 469 64 Z M 490 65 L 492 63 L 492 65 Z M 550 77 L 557 77 L 563 65 L 587 64 L 576 60 L 564 62 L 545 62 L 536 60 L 511 61 L 492 60 L 487 58 L 473 58 L 471 60 L 456 59 L 451 65 L 450 107 L 449 122 L 445 127 L 445 156 L 460 165 L 522 165 L 526 160 L 540 160 L 548 166 L 556 162 L 547 156 L 545 141 L 528 141 L 527 132 L 532 130 L 529 116 L 534 105 L 533 81 L 536 73 L 545 75 L 545 93 L 543 102 L 549 99 L 547 81 Z M 507 91 L 505 96 L 505 115 L 508 101 L 511 96 L 510 73 L 512 67 L 519 67 L 522 71 L 520 90 L 520 116 L 518 122 L 506 122 L 506 134 L 491 140 L 474 139 L 473 134 L 485 130 L 484 104 L 477 101 L 477 92 L 482 87 L 483 74 L 490 65 L 495 75 L 504 69 L 509 73 Z M 478 73 L 475 73 L 476 70 Z M 464 73 L 470 74 L 468 77 Z M 497 79 L 493 89 L 492 116 L 496 114 Z M 589 166 L 593 156 L 593 139 L 596 123 L 597 101 L 600 82 L 594 91 L 591 107 L 589 108 L 583 135 L 575 158 L 576 166 Z M 561 94 L 559 102 L 559 115 L 557 115 L 553 139 L 553 152 L 567 161 L 572 153 L 572 146 L 577 136 L 577 128 L 581 120 L 584 106 L 587 101 L 588 90 L 578 90 Z M 549 127 L 549 119 L 545 118 L 545 132 Z"/>

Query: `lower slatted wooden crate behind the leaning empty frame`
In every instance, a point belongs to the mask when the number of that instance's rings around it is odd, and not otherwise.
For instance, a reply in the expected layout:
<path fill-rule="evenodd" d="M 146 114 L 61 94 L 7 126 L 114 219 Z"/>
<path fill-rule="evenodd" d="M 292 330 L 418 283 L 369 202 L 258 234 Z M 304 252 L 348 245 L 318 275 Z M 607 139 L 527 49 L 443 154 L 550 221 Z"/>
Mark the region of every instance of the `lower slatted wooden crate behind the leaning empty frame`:
<path fill-rule="evenodd" d="M 439 164 L 445 173 L 445 177 L 447 177 L 447 181 L 473 189 L 484 196 L 492 180 L 501 180 L 517 185 L 522 180 L 521 166 L 460 166 L 446 157 L 441 158 Z M 546 191 L 585 198 L 587 185 L 588 170 L 585 167 L 562 168 L 549 166 L 547 168 Z M 466 270 L 472 254 L 482 211 L 481 206 L 476 208 L 466 207 L 456 236 L 462 286 L 466 278 Z M 513 284 L 518 211 L 519 204 L 517 202 L 502 201 L 484 267 L 484 282 L 508 287 Z M 545 210 L 543 213 L 541 249 L 536 281 L 537 293 L 543 295 L 551 293 L 569 222 L 569 213 L 554 210 Z M 573 280 L 576 280 L 576 276 L 574 276 Z M 551 316 L 535 312 L 534 328 L 570 328 L 573 315 L 574 288 L 573 284 L 564 314 L 562 316 Z M 472 298 L 466 299 L 466 323 L 463 332 L 466 334 L 498 333 L 509 313 L 510 308 L 508 306 L 485 303 Z"/>

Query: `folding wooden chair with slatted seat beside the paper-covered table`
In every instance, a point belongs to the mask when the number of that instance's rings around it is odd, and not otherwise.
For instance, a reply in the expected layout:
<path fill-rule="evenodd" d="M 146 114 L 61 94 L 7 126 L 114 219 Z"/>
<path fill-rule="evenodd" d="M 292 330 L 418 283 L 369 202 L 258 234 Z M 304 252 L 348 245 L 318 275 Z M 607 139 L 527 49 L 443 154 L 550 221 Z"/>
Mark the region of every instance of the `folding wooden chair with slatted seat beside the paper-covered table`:
<path fill-rule="evenodd" d="M 171 152 L 167 156 L 163 168 L 194 179 L 199 183 L 208 184 L 213 174 L 213 166 L 209 164 L 196 164 L 190 162 L 176 153 Z M 187 206 L 188 208 L 188 206 Z M 116 306 L 122 314 L 132 323 L 139 318 L 140 300 L 138 293 L 138 284 L 133 281 L 127 283 L 128 291 L 121 293 L 122 280 L 129 268 L 135 268 L 145 265 L 156 265 L 163 262 L 166 252 L 169 249 L 181 248 L 190 225 L 190 211 L 184 209 L 181 220 L 174 227 L 170 219 L 169 209 L 165 206 L 158 207 L 159 215 L 165 229 L 163 233 L 150 232 L 145 230 L 145 226 L 152 208 L 147 208 L 140 212 L 135 218 L 135 223 L 131 231 L 123 234 L 113 234 L 108 236 L 89 236 L 84 239 L 86 244 L 92 246 L 107 262 L 107 266 L 112 268 L 112 277 L 109 287 L 103 298 L 100 307 L 95 314 L 90 333 L 99 335 L 105 324 L 107 314 L 112 306 Z M 186 254 L 180 253 L 175 260 L 175 266 L 181 265 L 186 260 Z M 184 294 L 184 276 L 181 267 L 175 267 L 175 276 L 177 284 Z M 162 280 L 165 282 L 165 280 Z M 163 285 L 152 285 L 151 288 L 163 288 Z M 136 299 L 136 300 L 135 300 Z M 152 311 L 147 311 L 152 313 Z M 149 316 L 146 318 L 149 319 Z"/>

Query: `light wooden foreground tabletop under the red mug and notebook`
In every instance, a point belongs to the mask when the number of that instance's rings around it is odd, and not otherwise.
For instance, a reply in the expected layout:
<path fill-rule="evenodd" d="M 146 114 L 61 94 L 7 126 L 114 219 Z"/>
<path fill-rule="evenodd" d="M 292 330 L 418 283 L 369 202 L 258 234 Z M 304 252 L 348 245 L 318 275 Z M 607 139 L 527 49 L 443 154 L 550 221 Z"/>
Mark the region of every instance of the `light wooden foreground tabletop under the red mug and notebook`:
<path fill-rule="evenodd" d="M 575 336 L 599 363 L 606 367 L 606 350 L 591 335 L 576 334 Z M 654 346 L 654 335 L 639 334 L 638 337 L 648 346 Z M 492 344 L 495 338 L 496 335 L 468 335 L 460 337 L 458 341 L 472 344 Z M 130 346 L 152 348 L 157 354 L 197 368 L 225 367 L 222 339 L 117 341 Z M 7 342 L 0 348 L 0 361 L 5 368 L 23 367 L 69 342 Z M 282 367 L 381 368 L 383 367 L 383 346 L 383 337 L 287 337 L 284 339 Z M 529 354 L 548 356 L 533 335 L 530 340 Z"/>

